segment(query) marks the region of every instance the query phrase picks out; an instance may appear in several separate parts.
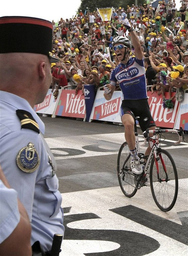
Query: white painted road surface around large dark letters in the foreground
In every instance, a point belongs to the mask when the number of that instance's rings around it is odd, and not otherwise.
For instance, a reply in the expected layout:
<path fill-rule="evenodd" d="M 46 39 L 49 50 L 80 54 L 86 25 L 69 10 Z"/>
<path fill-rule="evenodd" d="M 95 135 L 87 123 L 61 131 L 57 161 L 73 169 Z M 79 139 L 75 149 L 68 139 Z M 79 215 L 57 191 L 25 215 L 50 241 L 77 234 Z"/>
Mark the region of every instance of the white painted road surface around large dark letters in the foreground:
<path fill-rule="evenodd" d="M 188 247 L 185 244 L 109 211 L 109 209 L 131 204 L 181 225 L 177 212 L 187 211 L 187 200 L 185 200 L 185 198 L 187 198 L 187 188 L 188 179 L 179 180 L 178 198 L 174 208 L 168 213 L 161 212 L 155 205 L 149 187 L 141 188 L 141 190 L 139 190 L 132 198 L 125 197 L 120 187 L 63 193 L 62 207 L 71 207 L 70 212 L 64 214 L 65 216 L 72 214 L 94 213 L 100 217 L 100 219 L 71 222 L 68 224 L 69 228 L 90 230 L 128 230 L 135 232 L 135 242 L 136 233 L 147 235 L 159 242 L 160 247 L 156 251 L 147 254 L 149 256 L 187 256 Z M 144 199 L 146 196 L 147 199 Z M 116 243 L 109 243 L 110 244 L 104 241 L 63 240 L 60 256 L 84 256 L 84 253 L 97 252 L 99 248 L 101 249 L 101 252 L 105 250 L 115 250 L 117 248 Z"/>

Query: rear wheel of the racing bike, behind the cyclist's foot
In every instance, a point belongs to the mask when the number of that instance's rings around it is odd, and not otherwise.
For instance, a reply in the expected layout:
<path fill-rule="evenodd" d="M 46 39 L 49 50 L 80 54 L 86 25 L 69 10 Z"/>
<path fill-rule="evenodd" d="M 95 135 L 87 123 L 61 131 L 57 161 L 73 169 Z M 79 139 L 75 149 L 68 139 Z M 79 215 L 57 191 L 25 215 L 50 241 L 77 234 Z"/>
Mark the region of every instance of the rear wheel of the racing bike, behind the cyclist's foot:
<path fill-rule="evenodd" d="M 118 181 L 122 192 L 127 197 L 136 194 L 135 177 L 131 170 L 131 154 L 127 142 L 124 142 L 118 153 Z"/>

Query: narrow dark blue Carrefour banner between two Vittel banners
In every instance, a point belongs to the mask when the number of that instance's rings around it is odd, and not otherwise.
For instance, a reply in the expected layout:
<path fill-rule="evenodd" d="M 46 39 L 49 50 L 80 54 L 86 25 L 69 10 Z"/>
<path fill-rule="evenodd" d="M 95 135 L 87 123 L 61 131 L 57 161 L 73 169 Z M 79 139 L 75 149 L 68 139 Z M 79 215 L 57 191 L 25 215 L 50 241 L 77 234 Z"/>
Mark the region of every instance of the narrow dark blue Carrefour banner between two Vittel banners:
<path fill-rule="evenodd" d="M 85 98 L 85 104 L 86 104 L 86 121 L 89 122 L 89 118 L 93 108 L 93 103 L 95 101 L 94 85 L 84 85 L 84 98 Z"/>

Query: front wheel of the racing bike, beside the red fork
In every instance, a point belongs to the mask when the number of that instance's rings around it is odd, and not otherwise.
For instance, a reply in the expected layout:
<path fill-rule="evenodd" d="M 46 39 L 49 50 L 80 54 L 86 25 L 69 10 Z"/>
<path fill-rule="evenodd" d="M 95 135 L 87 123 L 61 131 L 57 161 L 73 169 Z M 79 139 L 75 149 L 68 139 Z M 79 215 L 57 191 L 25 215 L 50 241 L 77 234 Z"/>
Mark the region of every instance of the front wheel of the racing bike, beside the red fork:
<path fill-rule="evenodd" d="M 153 199 L 163 212 L 170 211 L 178 195 L 178 173 L 175 162 L 166 150 L 159 149 L 150 167 L 150 187 Z"/>

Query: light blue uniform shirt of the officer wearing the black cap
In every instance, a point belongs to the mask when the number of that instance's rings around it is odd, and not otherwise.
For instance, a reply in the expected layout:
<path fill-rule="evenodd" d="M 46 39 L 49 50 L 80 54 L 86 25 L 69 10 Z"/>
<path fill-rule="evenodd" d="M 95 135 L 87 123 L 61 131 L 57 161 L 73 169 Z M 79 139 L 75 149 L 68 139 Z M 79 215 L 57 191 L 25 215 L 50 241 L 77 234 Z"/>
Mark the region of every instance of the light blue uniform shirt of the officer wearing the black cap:
<path fill-rule="evenodd" d="M 14 94 L 0 92 L 0 159 L 5 176 L 25 206 L 32 225 L 32 240 L 40 241 L 43 250 L 49 251 L 54 233 L 64 234 L 61 194 L 58 179 L 53 175 L 49 154 L 42 135 L 31 129 L 21 129 L 17 109 L 31 113 L 44 134 L 44 123 L 27 100 Z M 22 171 L 16 162 L 18 153 L 33 143 L 40 164 L 29 173 Z M 49 149 L 49 148 L 48 148 Z M 53 161 L 53 160 L 52 160 Z M 53 162 L 55 165 L 55 162 Z"/>

